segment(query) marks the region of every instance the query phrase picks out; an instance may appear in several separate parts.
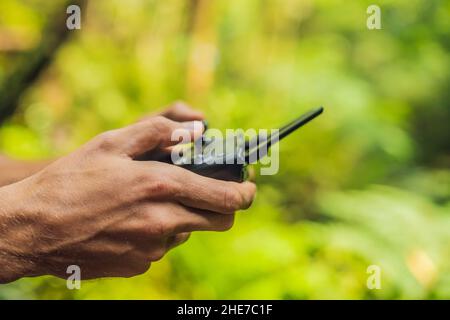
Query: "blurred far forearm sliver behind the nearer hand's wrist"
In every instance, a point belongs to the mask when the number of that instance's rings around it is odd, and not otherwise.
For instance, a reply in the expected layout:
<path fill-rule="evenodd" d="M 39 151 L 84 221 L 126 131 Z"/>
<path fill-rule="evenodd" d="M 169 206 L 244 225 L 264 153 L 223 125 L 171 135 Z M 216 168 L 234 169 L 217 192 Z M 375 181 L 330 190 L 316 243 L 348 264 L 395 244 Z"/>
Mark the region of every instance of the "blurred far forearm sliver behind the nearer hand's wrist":
<path fill-rule="evenodd" d="M 20 181 L 40 171 L 51 161 L 19 161 L 0 155 L 0 187 Z"/>

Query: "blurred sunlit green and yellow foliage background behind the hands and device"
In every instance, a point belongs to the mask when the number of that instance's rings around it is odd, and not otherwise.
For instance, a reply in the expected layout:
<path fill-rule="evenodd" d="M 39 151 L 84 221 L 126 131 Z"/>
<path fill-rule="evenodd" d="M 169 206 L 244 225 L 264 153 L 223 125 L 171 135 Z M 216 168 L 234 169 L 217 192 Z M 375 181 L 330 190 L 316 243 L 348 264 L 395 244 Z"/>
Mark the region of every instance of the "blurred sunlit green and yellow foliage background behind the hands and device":
<path fill-rule="evenodd" d="M 279 174 L 257 177 L 231 231 L 194 234 L 142 276 L 73 291 L 22 279 L 0 298 L 450 298 L 450 2 L 375 2 L 371 31 L 372 0 L 89 1 L 1 152 L 58 157 L 177 99 L 220 129 L 325 113 L 283 141 Z M 66 7 L 0 1 L 3 87 Z"/>

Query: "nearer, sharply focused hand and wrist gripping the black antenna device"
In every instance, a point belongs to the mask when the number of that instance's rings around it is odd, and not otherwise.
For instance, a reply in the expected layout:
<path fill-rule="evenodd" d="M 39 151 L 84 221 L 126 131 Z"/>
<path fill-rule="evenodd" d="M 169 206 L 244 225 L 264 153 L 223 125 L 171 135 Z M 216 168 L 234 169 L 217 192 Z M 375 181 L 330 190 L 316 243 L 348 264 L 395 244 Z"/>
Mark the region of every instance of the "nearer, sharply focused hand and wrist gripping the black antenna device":
<path fill-rule="evenodd" d="M 66 277 L 72 264 L 80 266 L 83 279 L 134 276 L 192 231 L 229 229 L 234 212 L 250 206 L 252 183 L 134 160 L 175 144 L 176 129 L 201 134 L 193 122 L 147 118 L 103 133 L 37 174 L 0 188 L 0 282 Z"/>

